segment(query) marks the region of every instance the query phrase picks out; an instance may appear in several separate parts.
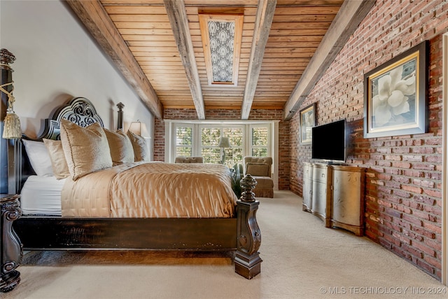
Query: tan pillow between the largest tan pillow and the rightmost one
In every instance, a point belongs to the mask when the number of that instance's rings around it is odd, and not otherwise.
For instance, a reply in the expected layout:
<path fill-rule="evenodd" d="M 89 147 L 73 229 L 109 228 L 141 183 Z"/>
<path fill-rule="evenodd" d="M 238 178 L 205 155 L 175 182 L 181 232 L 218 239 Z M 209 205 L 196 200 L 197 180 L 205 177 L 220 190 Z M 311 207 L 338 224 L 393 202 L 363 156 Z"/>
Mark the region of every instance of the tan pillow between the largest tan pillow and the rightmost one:
<path fill-rule="evenodd" d="M 134 162 L 134 148 L 132 143 L 122 130 L 113 132 L 103 129 L 106 133 L 109 148 L 111 148 L 111 158 L 113 165 L 120 165 L 127 162 Z"/>

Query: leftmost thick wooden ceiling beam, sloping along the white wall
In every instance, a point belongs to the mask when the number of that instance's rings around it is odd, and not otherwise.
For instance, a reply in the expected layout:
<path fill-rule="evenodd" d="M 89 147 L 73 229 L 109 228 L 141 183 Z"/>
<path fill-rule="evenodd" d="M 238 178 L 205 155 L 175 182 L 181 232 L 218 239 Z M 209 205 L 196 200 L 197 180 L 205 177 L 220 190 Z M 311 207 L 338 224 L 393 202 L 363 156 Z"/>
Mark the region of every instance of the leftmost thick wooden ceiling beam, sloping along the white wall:
<path fill-rule="evenodd" d="M 163 106 L 153 86 L 120 36 L 118 29 L 98 0 L 67 0 L 67 4 L 87 27 L 99 46 L 109 55 L 142 102 L 156 118 L 163 117 Z"/>

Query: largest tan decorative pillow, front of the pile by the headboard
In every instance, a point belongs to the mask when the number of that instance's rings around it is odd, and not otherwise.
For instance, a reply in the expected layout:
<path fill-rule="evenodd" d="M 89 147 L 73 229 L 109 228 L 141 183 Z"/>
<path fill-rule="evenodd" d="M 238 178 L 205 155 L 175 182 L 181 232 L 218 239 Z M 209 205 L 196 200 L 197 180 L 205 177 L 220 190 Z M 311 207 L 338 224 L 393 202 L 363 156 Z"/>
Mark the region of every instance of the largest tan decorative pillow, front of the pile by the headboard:
<path fill-rule="evenodd" d="M 98 123 L 80 127 L 62 119 L 61 141 L 69 172 L 74 181 L 90 172 L 112 167 L 109 142 Z"/>

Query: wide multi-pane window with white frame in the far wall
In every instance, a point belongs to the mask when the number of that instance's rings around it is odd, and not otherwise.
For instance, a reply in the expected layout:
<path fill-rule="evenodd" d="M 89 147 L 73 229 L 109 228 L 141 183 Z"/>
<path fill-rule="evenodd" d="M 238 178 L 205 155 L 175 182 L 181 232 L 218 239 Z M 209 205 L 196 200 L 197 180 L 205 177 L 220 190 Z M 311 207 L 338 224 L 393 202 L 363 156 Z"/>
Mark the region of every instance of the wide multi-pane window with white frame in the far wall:
<path fill-rule="evenodd" d="M 167 126 L 165 162 L 179 155 L 202 156 L 205 163 L 232 167 L 244 156 L 276 157 L 275 121 L 165 120 Z M 230 148 L 220 148 L 221 137 L 228 137 Z"/>

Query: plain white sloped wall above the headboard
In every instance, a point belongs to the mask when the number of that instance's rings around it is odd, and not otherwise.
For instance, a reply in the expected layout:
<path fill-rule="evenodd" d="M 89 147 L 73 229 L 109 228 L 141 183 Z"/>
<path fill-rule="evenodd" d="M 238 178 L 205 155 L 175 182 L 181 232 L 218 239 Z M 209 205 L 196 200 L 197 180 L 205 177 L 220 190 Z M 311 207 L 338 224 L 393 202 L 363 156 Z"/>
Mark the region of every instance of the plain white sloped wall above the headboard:
<path fill-rule="evenodd" d="M 72 97 L 85 97 L 115 129 L 118 102 L 125 130 L 137 119 L 153 136 L 153 115 L 62 1 L 0 1 L 0 48 L 15 55 L 15 113 L 36 137 L 41 120 Z"/>

